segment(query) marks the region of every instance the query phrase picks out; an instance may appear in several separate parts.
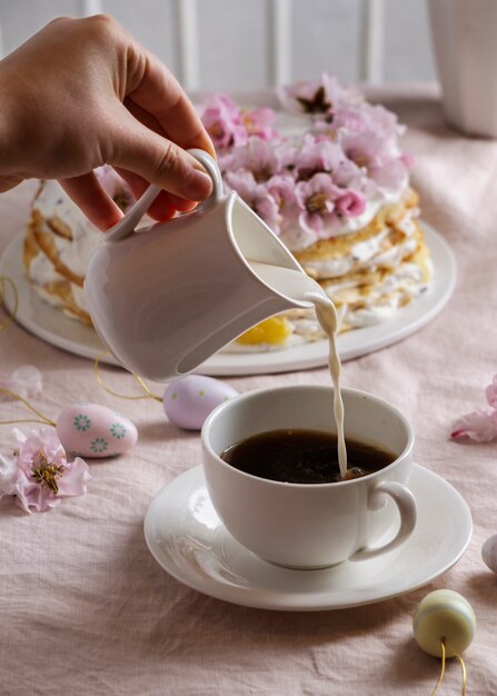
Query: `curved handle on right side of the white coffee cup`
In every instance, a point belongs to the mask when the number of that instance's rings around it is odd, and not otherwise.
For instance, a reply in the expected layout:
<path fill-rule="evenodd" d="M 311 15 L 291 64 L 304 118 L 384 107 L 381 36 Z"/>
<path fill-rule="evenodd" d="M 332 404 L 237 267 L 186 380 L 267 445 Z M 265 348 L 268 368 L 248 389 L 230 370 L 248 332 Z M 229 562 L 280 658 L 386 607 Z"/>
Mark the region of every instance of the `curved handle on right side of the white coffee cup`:
<path fill-rule="evenodd" d="M 396 536 L 390 541 L 387 541 L 387 544 L 382 546 L 366 546 L 356 551 L 354 556 L 350 556 L 349 560 L 369 560 L 369 558 L 376 558 L 381 554 L 391 551 L 411 535 L 416 526 L 416 498 L 407 486 L 397 481 L 379 484 L 369 494 L 369 503 L 374 504 L 374 499 L 377 498 L 380 493 L 386 493 L 397 505 L 400 515 L 400 528 Z"/>

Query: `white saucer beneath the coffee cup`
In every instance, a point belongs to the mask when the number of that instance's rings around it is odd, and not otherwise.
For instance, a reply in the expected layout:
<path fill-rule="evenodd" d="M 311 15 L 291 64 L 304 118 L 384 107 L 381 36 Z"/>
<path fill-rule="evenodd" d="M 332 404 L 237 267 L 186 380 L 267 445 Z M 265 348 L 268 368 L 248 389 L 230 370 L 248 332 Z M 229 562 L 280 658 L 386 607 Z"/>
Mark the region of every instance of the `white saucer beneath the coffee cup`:
<path fill-rule="evenodd" d="M 471 515 L 450 484 L 415 465 L 410 488 L 418 523 L 406 544 L 380 558 L 332 568 L 280 568 L 238 544 L 212 508 L 201 467 L 160 490 L 147 511 L 145 537 L 165 570 L 211 597 L 264 609 L 354 607 L 430 583 L 460 558 L 469 543 Z"/>

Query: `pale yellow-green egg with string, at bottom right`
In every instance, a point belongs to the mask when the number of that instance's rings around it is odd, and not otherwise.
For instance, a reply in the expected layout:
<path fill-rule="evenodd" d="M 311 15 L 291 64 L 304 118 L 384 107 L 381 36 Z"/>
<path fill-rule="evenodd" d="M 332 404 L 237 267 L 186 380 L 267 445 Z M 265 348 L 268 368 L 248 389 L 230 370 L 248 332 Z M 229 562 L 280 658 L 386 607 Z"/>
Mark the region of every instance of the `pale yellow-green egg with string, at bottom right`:
<path fill-rule="evenodd" d="M 460 655 L 471 643 L 476 617 L 467 599 L 451 589 L 436 589 L 419 603 L 412 632 L 419 647 L 435 657 L 441 657 L 441 640 L 447 657 Z"/>

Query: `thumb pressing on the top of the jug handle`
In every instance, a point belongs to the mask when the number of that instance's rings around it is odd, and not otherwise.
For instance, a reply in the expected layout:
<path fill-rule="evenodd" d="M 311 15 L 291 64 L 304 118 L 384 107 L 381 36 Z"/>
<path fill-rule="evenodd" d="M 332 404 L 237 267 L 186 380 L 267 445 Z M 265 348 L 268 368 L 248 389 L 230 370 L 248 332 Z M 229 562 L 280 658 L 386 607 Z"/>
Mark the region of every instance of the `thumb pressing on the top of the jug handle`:
<path fill-rule="evenodd" d="M 188 200 L 205 200 L 212 181 L 198 160 L 122 109 L 113 129 L 108 162 L 128 169 L 161 189 Z"/>

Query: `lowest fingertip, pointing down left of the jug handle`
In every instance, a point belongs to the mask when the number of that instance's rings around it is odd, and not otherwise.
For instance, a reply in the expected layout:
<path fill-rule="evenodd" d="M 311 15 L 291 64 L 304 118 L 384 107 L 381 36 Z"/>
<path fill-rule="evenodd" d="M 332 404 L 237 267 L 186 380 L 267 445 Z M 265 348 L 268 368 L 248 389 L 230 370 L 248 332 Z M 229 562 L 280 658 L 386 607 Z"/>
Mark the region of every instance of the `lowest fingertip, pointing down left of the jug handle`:
<path fill-rule="evenodd" d="M 119 207 L 106 193 L 93 172 L 59 179 L 59 183 L 99 229 L 107 230 L 122 218 Z"/>

